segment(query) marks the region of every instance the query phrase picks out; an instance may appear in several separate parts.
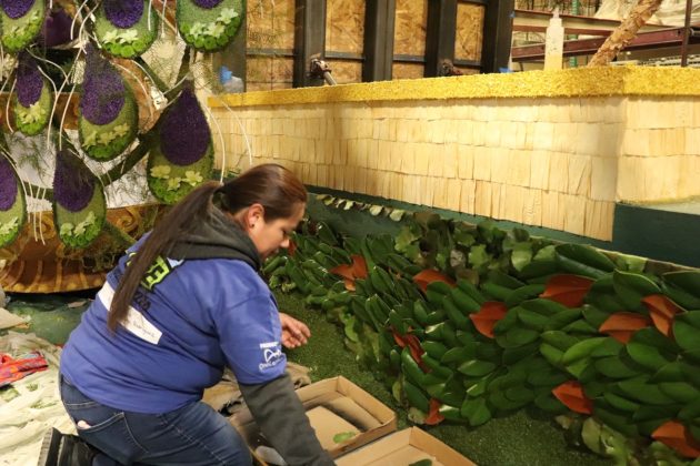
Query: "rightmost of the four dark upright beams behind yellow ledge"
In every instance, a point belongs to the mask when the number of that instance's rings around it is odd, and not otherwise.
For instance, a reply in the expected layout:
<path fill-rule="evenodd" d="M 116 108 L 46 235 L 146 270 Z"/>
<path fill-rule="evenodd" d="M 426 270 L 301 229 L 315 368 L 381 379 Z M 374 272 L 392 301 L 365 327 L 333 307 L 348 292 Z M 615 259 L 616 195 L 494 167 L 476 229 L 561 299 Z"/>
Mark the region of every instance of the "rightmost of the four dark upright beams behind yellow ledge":
<path fill-rule="evenodd" d="M 482 73 L 498 73 L 508 68 L 514 11 L 516 0 L 489 0 L 483 17 Z"/>

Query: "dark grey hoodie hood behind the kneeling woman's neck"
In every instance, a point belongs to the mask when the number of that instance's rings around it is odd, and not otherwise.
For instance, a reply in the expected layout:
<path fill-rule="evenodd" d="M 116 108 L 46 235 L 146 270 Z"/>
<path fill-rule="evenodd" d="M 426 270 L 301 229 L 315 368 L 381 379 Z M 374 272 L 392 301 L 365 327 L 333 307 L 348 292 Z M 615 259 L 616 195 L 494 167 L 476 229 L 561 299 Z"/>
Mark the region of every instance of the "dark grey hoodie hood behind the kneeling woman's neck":
<path fill-rule="evenodd" d="M 208 220 L 184 234 L 168 256 L 174 260 L 236 259 L 256 271 L 262 265 L 260 254 L 248 233 L 216 205 L 211 207 Z"/>

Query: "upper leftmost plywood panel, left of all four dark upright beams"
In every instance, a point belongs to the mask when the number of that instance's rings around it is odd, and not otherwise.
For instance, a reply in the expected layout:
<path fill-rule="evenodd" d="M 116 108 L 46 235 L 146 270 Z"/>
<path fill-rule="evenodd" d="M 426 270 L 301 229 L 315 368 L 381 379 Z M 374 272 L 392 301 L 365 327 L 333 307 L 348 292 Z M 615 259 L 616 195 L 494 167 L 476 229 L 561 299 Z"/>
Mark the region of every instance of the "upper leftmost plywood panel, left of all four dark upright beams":
<path fill-rule="evenodd" d="M 248 47 L 294 47 L 294 0 L 250 0 L 247 8 Z"/>

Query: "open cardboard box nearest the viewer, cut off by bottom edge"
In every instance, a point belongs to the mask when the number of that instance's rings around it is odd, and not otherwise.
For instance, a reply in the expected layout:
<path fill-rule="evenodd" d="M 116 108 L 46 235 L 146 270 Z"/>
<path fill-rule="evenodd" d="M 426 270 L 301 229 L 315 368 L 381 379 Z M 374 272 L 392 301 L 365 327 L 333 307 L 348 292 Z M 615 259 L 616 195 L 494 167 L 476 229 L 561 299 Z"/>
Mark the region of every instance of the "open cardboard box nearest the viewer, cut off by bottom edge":
<path fill-rule="evenodd" d="M 336 459 L 337 466 L 406 466 L 430 459 L 432 466 L 473 466 L 432 435 L 418 427 L 388 435 Z"/>

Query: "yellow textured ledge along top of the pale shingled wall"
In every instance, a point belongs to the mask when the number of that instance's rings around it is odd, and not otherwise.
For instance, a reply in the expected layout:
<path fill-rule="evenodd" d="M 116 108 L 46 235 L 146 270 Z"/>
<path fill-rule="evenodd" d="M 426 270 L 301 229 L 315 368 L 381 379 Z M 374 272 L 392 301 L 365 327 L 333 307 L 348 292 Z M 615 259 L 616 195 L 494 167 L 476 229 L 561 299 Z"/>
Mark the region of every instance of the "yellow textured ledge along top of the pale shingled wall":
<path fill-rule="evenodd" d="M 342 84 L 223 94 L 211 108 L 304 103 L 489 98 L 580 98 L 606 95 L 697 95 L 700 70 L 603 67 Z"/>

